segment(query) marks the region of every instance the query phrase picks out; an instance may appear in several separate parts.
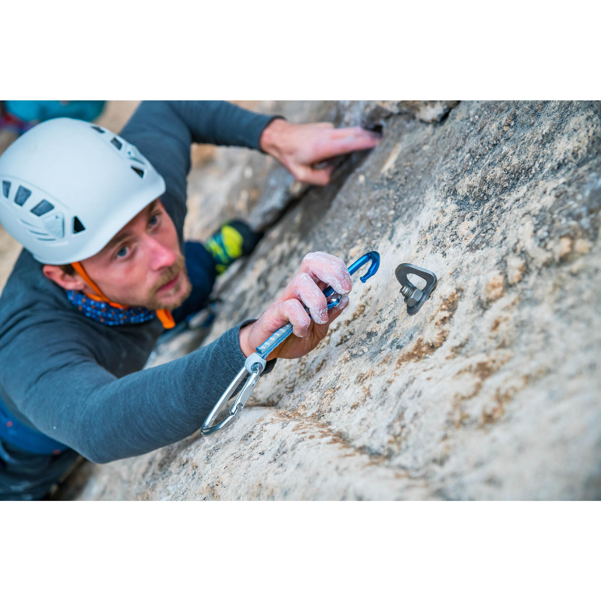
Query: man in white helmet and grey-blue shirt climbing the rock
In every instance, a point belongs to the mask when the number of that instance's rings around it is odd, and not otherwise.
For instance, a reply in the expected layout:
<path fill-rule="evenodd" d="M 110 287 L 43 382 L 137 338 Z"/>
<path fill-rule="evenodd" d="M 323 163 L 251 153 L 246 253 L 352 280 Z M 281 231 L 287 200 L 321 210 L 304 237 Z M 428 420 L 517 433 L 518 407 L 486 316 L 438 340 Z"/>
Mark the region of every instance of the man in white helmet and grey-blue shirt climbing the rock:
<path fill-rule="evenodd" d="M 0 221 L 25 248 L 0 297 L 0 499 L 47 498 L 79 454 L 109 462 L 191 435 L 255 346 L 293 324 L 267 373 L 313 349 L 348 304 L 328 313 L 320 290 L 347 294 L 350 276 L 314 252 L 260 319 L 141 371 L 164 328 L 257 242 L 243 222 L 183 242 L 191 142 L 257 148 L 325 185 L 331 168 L 312 165 L 377 137 L 225 102 L 143 102 L 121 135 L 59 118 L 13 142 L 0 156 Z"/>

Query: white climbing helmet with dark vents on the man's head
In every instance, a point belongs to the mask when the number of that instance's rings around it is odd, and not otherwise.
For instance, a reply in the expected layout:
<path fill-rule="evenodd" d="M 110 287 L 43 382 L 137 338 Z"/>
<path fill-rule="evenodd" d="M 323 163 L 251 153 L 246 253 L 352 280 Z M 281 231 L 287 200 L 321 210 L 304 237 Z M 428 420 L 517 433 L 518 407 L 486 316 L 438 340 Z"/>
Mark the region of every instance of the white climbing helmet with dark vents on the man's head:
<path fill-rule="evenodd" d="M 0 221 L 41 263 L 95 255 L 165 180 L 105 127 L 58 118 L 32 127 L 0 156 Z"/>

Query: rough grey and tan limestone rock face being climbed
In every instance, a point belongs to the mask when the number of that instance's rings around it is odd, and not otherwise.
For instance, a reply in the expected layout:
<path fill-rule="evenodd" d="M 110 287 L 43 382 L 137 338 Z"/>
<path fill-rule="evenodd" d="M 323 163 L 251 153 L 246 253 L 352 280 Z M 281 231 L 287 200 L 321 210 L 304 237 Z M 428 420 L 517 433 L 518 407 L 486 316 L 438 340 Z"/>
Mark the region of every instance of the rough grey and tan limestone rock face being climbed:
<path fill-rule="evenodd" d="M 90 465 L 79 498 L 601 498 L 601 106 L 434 104 L 380 111 L 382 142 L 324 189 L 294 197 L 281 177 L 269 190 L 278 166 L 256 153 L 228 167 L 222 214 L 236 213 L 228 194 L 240 198 L 251 161 L 265 169 L 255 206 L 278 191 L 292 200 L 219 282 L 205 342 L 260 316 L 307 252 L 350 264 L 377 250 L 379 272 L 353 278 L 325 340 L 278 361 L 233 426 Z M 372 110 L 312 103 L 304 119 L 358 124 Z M 415 316 L 399 263 L 438 276 Z"/>

